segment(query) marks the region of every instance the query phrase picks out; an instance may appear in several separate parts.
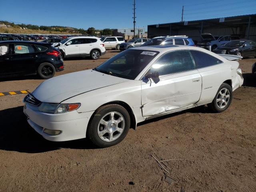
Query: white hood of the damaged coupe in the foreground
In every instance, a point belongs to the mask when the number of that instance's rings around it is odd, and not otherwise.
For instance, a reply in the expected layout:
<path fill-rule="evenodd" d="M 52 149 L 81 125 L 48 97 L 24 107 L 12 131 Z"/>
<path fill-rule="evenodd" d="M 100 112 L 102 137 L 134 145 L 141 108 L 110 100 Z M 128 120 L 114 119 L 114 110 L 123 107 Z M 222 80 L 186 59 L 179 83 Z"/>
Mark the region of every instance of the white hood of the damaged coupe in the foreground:
<path fill-rule="evenodd" d="M 32 95 L 41 102 L 60 103 L 76 95 L 126 81 L 128 79 L 85 70 L 46 80 Z"/>

